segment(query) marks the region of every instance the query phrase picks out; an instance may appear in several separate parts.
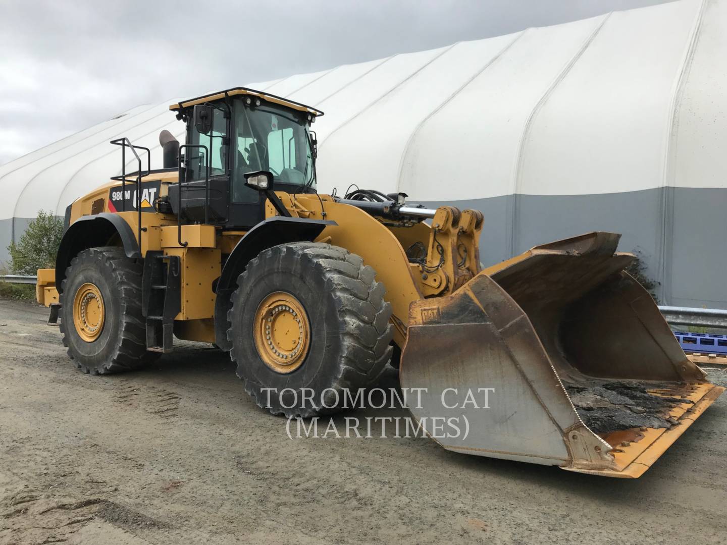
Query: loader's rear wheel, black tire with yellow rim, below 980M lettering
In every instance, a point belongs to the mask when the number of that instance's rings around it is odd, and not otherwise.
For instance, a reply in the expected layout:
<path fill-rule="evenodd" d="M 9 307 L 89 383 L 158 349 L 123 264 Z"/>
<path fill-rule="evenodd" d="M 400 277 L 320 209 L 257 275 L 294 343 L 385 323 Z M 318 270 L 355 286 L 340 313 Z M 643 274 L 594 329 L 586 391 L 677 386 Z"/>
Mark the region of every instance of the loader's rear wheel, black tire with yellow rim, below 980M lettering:
<path fill-rule="evenodd" d="M 146 350 L 141 278 L 140 262 L 115 246 L 81 251 L 71 261 L 60 294 L 60 331 L 84 373 L 132 371 L 159 357 Z"/>

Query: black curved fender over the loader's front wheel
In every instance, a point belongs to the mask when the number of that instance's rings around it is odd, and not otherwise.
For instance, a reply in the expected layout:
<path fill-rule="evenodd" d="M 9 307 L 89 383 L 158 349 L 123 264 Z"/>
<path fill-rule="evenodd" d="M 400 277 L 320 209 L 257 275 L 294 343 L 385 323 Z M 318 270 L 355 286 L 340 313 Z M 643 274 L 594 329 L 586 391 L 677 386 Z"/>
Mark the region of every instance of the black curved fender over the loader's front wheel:
<path fill-rule="evenodd" d="M 278 244 L 312 242 L 329 225 L 338 224 L 322 219 L 274 216 L 252 227 L 240 239 L 222 267 L 215 289 L 217 296 L 214 299 L 214 339 L 218 347 L 225 352 L 229 352 L 232 347 L 227 338 L 227 330 L 230 328 L 227 318 L 231 306 L 230 296 L 237 289 L 238 276 L 250 260 L 261 251 Z"/>

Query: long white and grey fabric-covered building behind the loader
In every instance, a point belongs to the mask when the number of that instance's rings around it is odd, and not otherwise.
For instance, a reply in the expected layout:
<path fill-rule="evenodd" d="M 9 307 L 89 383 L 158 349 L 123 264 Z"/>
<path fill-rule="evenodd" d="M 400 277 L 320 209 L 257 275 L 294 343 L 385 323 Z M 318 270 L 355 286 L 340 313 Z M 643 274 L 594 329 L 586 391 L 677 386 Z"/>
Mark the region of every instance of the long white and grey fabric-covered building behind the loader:
<path fill-rule="evenodd" d="M 246 85 L 326 112 L 321 193 L 356 184 L 479 209 L 485 264 L 615 231 L 660 302 L 726 308 L 725 58 L 727 0 L 680 0 Z M 63 215 L 119 174 L 109 140 L 161 166 L 161 129 L 183 140 L 177 100 L 0 166 L 0 261 L 39 209 Z"/>

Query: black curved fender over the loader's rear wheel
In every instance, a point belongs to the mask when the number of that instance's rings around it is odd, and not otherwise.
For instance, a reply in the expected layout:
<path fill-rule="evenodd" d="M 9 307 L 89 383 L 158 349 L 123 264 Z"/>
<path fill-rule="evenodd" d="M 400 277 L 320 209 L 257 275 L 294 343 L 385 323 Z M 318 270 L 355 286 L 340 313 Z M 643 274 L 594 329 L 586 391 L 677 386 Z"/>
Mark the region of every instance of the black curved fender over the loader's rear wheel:
<path fill-rule="evenodd" d="M 121 238 L 126 257 L 132 259 L 141 257 L 139 244 L 134 237 L 132 228 L 116 214 L 101 212 L 95 216 L 84 216 L 68 226 L 63 233 L 63 239 L 60 241 L 55 258 L 55 286 L 59 294 L 63 291 L 65 270 L 68 269 L 68 265 L 71 265 L 71 259 L 76 257 L 79 251 L 96 246 L 107 246 L 115 235 L 119 235 Z"/>

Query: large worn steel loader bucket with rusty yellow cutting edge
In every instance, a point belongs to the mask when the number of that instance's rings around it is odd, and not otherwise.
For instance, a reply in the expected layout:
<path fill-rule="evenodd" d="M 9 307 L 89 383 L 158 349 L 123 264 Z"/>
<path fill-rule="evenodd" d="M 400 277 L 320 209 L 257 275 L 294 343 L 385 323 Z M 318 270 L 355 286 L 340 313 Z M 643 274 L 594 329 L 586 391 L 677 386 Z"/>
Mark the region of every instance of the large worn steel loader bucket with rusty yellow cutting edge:
<path fill-rule="evenodd" d="M 639 477 L 724 391 L 624 272 L 620 235 L 536 246 L 411 303 L 401 386 L 451 451 Z"/>

